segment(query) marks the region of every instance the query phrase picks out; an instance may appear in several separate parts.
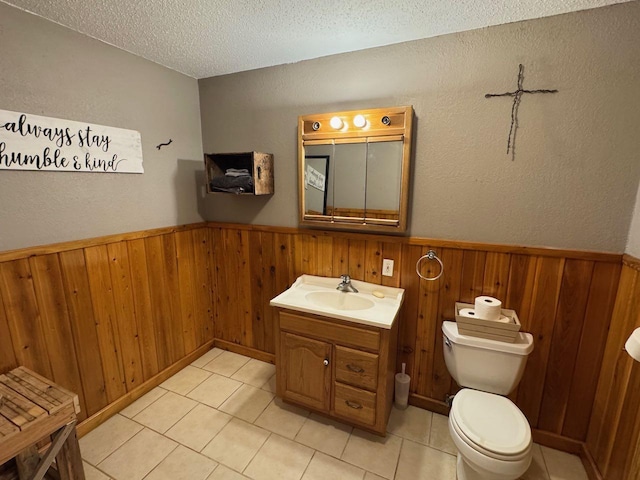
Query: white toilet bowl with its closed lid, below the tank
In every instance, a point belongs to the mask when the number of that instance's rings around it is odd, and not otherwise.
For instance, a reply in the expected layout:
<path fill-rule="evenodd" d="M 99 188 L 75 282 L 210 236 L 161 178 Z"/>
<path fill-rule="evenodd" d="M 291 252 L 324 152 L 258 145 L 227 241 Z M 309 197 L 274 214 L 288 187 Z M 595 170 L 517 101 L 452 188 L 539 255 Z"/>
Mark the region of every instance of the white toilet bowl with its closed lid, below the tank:
<path fill-rule="evenodd" d="M 449 413 L 458 480 L 515 480 L 531 464 L 531 428 L 508 398 L 463 389 Z"/>

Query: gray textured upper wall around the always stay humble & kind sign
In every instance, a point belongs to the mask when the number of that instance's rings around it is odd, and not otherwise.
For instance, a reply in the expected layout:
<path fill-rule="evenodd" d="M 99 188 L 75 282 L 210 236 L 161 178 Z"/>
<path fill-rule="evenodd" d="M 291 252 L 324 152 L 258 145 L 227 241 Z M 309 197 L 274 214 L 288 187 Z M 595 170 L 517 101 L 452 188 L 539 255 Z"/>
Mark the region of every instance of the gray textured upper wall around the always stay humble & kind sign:
<path fill-rule="evenodd" d="M 202 220 L 193 78 L 0 3 L 0 109 L 137 130 L 145 169 L 0 170 L 0 251 Z"/>

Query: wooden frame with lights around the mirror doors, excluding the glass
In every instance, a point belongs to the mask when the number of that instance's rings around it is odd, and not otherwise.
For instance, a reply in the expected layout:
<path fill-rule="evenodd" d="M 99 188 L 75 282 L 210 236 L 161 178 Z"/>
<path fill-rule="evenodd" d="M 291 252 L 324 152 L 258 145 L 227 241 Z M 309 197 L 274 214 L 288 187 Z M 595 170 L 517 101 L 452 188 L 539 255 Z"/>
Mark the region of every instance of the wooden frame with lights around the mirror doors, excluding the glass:
<path fill-rule="evenodd" d="M 360 124 L 354 125 L 354 118 Z M 339 121 L 335 119 L 339 119 Z M 332 126 L 331 122 L 334 121 Z M 357 123 L 357 122 L 355 122 Z M 407 230 L 409 204 L 409 176 L 411 170 L 413 107 L 375 108 L 344 112 L 303 115 L 298 118 L 298 192 L 300 225 L 326 229 L 363 230 L 386 233 L 404 233 Z M 402 141 L 402 166 L 398 199 L 398 219 L 368 217 L 366 203 L 364 215 L 359 218 L 305 213 L 305 146 L 339 145 L 347 143 L 374 143 Z M 325 180 L 328 185 L 329 179 Z M 331 182 L 332 186 L 335 185 Z M 328 187 L 325 187 L 328 188 Z M 326 194 L 325 194 L 326 195 Z M 365 194 L 366 199 L 366 194 Z"/>

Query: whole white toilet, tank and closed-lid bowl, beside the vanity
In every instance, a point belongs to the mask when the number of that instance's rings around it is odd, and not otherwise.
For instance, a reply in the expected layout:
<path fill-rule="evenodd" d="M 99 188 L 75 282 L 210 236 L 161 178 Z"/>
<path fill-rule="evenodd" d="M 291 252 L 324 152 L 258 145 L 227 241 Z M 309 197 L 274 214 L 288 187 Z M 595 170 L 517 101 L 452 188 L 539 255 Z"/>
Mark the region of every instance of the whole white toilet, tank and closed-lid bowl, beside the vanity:
<path fill-rule="evenodd" d="M 531 464 L 531 427 L 508 395 L 518 385 L 533 337 L 514 343 L 469 337 L 442 324 L 444 359 L 464 387 L 453 398 L 449 432 L 458 449 L 458 480 L 515 480 Z"/>

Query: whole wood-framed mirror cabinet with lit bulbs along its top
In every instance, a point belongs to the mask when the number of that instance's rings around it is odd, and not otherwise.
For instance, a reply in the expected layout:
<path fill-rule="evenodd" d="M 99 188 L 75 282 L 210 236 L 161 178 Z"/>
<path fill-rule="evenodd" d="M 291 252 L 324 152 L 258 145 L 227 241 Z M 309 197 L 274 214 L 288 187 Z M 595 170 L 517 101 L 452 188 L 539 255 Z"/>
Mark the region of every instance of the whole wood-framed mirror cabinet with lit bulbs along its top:
<path fill-rule="evenodd" d="M 299 118 L 300 224 L 404 232 L 412 107 Z"/>

